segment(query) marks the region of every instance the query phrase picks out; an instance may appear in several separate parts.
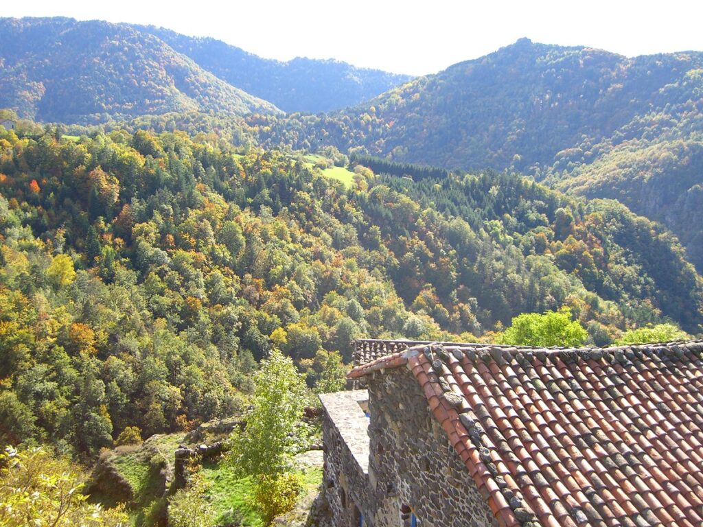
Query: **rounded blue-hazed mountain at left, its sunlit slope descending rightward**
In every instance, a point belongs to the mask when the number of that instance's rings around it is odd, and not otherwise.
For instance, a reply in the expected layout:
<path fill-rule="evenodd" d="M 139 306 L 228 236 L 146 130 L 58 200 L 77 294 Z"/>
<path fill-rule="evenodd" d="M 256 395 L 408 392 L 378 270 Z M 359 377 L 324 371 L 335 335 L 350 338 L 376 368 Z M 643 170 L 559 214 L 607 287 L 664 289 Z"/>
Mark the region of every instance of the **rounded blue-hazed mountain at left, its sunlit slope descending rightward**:
<path fill-rule="evenodd" d="M 198 110 L 276 114 L 152 34 L 70 18 L 0 19 L 0 108 L 57 122 Z"/>

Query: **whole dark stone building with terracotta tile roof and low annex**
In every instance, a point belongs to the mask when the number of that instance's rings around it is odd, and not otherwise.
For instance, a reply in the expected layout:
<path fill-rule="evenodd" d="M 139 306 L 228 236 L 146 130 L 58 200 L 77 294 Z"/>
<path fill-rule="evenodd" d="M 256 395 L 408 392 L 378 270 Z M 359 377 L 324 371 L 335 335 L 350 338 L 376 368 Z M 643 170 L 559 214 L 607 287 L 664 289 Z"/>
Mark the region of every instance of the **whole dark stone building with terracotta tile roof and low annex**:
<path fill-rule="evenodd" d="M 333 525 L 701 526 L 702 357 L 358 341 L 366 389 L 321 396 Z"/>

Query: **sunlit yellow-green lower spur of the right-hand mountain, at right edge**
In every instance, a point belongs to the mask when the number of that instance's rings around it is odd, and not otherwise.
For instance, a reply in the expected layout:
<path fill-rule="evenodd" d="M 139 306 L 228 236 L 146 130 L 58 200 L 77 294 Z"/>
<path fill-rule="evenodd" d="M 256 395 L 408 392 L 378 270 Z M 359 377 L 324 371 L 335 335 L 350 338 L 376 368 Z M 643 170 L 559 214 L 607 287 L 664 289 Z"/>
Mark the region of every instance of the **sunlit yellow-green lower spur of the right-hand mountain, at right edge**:
<path fill-rule="evenodd" d="M 699 94 L 703 97 L 703 90 Z M 702 271 L 703 105 L 686 100 L 677 106 L 669 115 L 652 112 L 636 122 L 641 128 L 634 137 L 560 152 L 543 181 L 567 193 L 617 199 L 663 223 Z M 589 148 L 598 156 L 587 162 Z"/>

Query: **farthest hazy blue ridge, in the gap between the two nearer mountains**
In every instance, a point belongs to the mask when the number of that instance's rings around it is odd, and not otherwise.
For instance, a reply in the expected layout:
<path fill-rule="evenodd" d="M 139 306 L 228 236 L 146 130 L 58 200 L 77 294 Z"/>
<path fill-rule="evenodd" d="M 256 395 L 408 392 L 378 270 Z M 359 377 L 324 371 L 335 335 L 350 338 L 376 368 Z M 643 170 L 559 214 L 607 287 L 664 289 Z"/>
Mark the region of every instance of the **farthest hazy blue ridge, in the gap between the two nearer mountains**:
<path fill-rule="evenodd" d="M 339 60 L 261 58 L 223 41 L 186 37 L 162 27 L 138 26 L 220 79 L 286 112 L 328 112 L 384 93 L 412 77 L 354 67 Z"/>

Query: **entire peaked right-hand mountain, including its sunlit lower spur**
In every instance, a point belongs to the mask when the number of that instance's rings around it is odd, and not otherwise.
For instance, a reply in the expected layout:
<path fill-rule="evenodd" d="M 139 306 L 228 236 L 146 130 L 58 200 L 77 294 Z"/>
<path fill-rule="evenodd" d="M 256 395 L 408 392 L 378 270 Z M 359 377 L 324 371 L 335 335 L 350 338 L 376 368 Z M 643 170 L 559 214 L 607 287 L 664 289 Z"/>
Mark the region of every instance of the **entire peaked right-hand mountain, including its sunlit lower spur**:
<path fill-rule="evenodd" d="M 703 53 L 626 58 L 520 39 L 355 108 L 259 129 L 264 145 L 515 170 L 617 198 L 671 228 L 703 271 Z"/>

